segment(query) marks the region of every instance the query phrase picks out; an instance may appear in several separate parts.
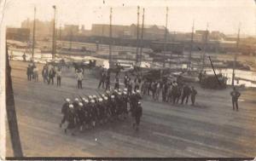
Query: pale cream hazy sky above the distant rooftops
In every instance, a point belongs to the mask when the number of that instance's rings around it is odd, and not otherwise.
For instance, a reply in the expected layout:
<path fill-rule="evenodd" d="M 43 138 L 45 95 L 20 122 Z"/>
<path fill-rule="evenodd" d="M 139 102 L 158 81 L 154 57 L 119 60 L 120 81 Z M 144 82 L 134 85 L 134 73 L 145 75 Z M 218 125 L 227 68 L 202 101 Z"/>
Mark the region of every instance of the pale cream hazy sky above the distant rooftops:
<path fill-rule="evenodd" d="M 241 34 L 256 35 L 256 8 L 253 0 L 7 0 L 4 20 L 7 26 L 20 26 L 27 18 L 51 20 L 57 8 L 57 26 L 109 23 L 109 8 L 113 7 L 113 24 L 137 23 L 137 5 L 145 8 L 145 24 L 165 25 L 169 7 L 168 28 L 171 32 L 190 32 L 195 20 L 196 30 L 218 30 L 236 34 L 241 22 Z M 141 9 L 142 14 L 142 9 Z M 142 16 L 140 18 L 142 22 Z"/>

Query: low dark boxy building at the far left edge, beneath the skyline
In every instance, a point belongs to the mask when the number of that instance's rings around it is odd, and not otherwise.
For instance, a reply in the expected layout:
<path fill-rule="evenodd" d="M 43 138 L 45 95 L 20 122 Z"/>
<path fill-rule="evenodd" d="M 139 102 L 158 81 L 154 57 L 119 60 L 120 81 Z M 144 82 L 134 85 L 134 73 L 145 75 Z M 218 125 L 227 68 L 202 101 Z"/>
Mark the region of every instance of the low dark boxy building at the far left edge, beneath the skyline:
<path fill-rule="evenodd" d="M 30 38 L 30 29 L 27 28 L 7 28 L 6 39 L 28 42 Z"/>

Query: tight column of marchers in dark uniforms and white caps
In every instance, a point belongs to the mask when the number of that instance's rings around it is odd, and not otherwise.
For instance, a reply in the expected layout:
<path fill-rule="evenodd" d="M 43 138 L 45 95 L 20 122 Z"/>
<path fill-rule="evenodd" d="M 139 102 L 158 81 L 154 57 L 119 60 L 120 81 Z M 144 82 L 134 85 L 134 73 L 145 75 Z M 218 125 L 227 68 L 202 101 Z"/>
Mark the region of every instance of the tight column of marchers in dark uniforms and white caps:
<path fill-rule="evenodd" d="M 125 120 L 131 114 L 134 119 L 132 127 L 137 131 L 143 114 L 141 99 L 139 90 L 128 95 L 127 89 L 107 90 L 98 96 L 79 96 L 74 101 L 66 98 L 61 109 L 63 118 L 60 127 L 67 122 L 65 133 L 70 130 L 74 135 L 73 129 L 93 129 L 109 122 Z"/>

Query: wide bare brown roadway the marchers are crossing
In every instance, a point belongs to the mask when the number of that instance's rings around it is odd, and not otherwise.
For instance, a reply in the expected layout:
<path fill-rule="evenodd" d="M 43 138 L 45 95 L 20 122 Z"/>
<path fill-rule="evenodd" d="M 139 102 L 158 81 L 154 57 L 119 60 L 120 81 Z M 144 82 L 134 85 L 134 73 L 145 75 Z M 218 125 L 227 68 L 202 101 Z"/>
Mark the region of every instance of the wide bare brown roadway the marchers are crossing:
<path fill-rule="evenodd" d="M 241 91 L 240 111 L 232 111 L 230 90 L 198 90 L 196 106 L 143 99 L 140 130 L 131 118 L 76 135 L 59 127 L 64 97 L 96 94 L 98 81 L 85 72 L 76 89 L 70 71 L 61 87 L 26 80 L 27 64 L 12 61 L 15 108 L 25 156 L 31 157 L 253 157 L 256 155 L 256 90 Z M 39 66 L 39 65 L 38 65 Z M 41 66 L 40 66 L 41 67 Z M 102 90 L 98 90 L 102 91 Z M 189 102 L 190 104 L 190 102 Z M 7 156 L 13 156 L 7 133 Z"/>

